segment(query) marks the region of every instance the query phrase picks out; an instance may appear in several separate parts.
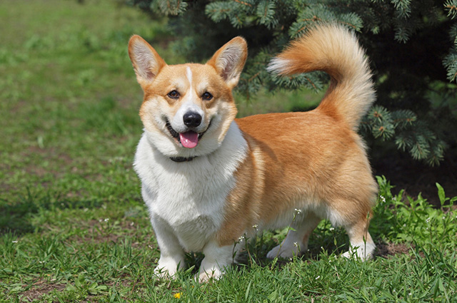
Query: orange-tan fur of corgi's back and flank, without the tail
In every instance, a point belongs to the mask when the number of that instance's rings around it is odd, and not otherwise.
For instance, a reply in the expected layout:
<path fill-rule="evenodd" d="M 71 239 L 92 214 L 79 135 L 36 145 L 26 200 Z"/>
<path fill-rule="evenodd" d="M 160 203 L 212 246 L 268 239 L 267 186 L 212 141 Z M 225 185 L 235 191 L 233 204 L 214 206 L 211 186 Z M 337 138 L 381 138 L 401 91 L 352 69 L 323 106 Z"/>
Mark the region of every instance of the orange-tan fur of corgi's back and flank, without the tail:
<path fill-rule="evenodd" d="M 236 123 L 249 136 L 250 148 L 258 148 L 266 170 L 251 170 L 256 156 L 249 154 L 237 174 L 239 187 L 236 195 L 245 195 L 256 188 L 257 195 L 248 195 L 249 203 L 237 214 L 228 215 L 220 238 L 226 238 L 241 220 L 243 214 L 254 218 L 245 229 L 258 222 L 270 222 L 278 214 L 297 207 L 297 200 L 325 203 L 343 215 L 343 225 L 368 226 L 367 215 L 376 199 L 377 185 L 371 175 L 364 145 L 357 133 L 323 113 L 320 108 L 307 113 L 273 113 L 237 119 Z M 257 156 L 258 158 L 258 156 Z M 248 186 L 249 185 L 249 186 Z M 229 198 L 231 204 L 233 197 Z M 236 199 L 238 200 L 238 199 Z M 238 200 L 243 201 L 243 200 Z M 230 210 L 229 210 L 229 213 Z M 231 224 L 230 224 L 230 223 Z M 366 230 L 360 239 L 366 237 Z M 232 241 L 238 239 L 234 235 Z"/>

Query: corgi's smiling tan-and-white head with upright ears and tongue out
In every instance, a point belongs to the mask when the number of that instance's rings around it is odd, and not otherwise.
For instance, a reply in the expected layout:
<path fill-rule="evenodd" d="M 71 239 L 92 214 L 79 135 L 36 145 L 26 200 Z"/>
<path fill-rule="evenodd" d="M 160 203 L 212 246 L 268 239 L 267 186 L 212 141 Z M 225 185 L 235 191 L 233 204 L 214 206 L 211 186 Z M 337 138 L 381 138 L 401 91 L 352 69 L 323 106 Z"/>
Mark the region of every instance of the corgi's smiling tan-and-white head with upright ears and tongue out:
<path fill-rule="evenodd" d="M 219 148 L 236 116 L 231 91 L 246 62 L 246 41 L 233 38 L 206 64 L 167 65 L 143 38 L 132 36 L 129 56 L 144 91 L 140 116 L 151 143 L 169 157 Z"/>

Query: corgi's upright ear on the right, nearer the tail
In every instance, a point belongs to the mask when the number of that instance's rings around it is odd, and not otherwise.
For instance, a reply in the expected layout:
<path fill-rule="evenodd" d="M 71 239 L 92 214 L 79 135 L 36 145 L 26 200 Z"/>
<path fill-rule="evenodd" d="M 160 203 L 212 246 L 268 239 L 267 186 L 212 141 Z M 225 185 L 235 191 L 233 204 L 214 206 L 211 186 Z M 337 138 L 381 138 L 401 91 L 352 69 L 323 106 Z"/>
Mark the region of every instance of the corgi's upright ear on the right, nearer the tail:
<path fill-rule="evenodd" d="M 230 88 L 238 83 L 248 56 L 248 44 L 241 37 L 235 37 L 219 48 L 206 64 L 214 66 Z"/>

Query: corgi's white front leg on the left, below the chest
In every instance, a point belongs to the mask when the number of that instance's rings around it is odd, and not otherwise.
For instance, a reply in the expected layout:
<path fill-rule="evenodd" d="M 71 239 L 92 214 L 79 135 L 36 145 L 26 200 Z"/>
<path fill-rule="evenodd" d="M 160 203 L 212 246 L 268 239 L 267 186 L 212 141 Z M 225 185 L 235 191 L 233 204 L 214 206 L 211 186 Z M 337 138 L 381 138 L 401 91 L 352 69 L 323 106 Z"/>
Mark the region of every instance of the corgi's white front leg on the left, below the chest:
<path fill-rule="evenodd" d="M 179 240 L 174 235 L 171 227 L 161 219 L 151 219 L 156 240 L 160 248 L 160 259 L 154 274 L 158 277 L 173 277 L 174 274 L 184 267 L 184 250 Z"/>

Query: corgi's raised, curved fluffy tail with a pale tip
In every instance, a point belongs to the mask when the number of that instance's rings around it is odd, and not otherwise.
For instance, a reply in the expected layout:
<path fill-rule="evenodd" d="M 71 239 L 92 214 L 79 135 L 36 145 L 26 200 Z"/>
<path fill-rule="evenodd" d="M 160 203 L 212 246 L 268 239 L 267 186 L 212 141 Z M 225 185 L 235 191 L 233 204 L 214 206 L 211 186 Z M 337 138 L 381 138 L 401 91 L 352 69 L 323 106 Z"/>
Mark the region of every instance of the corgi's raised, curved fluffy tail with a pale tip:
<path fill-rule="evenodd" d="M 328 73 L 331 83 L 318 108 L 354 130 L 376 98 L 368 61 L 356 36 L 336 24 L 318 26 L 293 41 L 267 69 L 280 75 Z"/>

